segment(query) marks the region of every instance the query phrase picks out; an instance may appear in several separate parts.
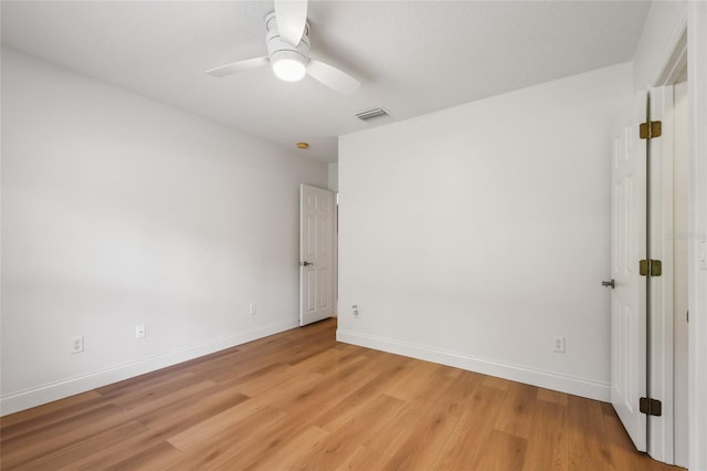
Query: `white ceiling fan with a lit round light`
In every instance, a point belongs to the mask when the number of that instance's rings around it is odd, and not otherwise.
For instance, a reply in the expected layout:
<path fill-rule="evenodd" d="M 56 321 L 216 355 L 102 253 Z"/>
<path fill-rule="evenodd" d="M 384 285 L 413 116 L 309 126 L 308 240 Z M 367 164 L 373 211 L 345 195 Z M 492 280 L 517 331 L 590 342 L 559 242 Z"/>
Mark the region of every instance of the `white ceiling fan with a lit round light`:
<path fill-rule="evenodd" d="M 350 94 L 361 84 L 344 71 L 316 59 L 309 59 L 309 23 L 307 1 L 275 0 L 275 11 L 265 17 L 267 55 L 232 62 L 207 71 L 222 77 L 270 64 L 275 75 L 287 82 L 305 74 L 340 93 Z"/>

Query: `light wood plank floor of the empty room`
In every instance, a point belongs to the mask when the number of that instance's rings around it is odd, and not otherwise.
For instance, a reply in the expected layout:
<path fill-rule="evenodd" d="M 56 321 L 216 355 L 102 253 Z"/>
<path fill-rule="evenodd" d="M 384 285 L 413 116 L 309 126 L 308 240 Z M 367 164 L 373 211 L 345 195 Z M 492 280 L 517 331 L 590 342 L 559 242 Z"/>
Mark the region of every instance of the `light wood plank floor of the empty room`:
<path fill-rule="evenodd" d="M 661 470 L 611 406 L 288 331 L 1 419 L 2 469 Z"/>

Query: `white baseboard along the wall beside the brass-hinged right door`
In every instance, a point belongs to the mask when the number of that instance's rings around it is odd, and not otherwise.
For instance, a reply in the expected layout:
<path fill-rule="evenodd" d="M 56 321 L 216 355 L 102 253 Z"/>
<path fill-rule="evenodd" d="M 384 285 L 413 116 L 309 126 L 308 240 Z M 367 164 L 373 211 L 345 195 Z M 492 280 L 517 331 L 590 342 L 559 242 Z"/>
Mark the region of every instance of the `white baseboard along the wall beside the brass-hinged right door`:
<path fill-rule="evenodd" d="M 401 342 L 393 338 L 360 334 L 357 332 L 338 329 L 336 333 L 336 339 L 337 342 L 403 355 L 411 358 L 424 359 L 426 362 L 434 362 L 442 365 L 454 366 L 469 371 L 496 376 L 498 378 L 561 393 L 568 393 L 589 399 L 602 401 L 611 400 L 611 386 L 604 383 L 591 381 L 541 369 L 500 363 L 487 358 L 474 357 L 456 352 Z"/>

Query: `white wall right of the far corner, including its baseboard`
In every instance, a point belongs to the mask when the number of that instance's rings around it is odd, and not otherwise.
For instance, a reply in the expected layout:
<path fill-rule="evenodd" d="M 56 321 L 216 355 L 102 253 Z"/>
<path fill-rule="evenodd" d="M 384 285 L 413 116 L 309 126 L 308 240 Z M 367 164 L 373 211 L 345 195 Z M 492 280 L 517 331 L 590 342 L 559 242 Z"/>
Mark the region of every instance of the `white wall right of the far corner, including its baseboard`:
<path fill-rule="evenodd" d="M 610 138 L 631 76 L 342 136 L 337 338 L 608 400 Z"/>

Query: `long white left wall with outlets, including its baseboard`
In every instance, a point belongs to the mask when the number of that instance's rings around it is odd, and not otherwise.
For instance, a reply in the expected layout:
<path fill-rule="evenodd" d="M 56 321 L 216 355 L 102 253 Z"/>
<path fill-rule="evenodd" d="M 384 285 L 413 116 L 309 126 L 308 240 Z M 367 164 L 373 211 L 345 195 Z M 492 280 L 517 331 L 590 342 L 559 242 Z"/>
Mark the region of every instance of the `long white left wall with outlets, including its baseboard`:
<path fill-rule="evenodd" d="M 326 165 L 3 50 L 2 414 L 298 325 L 300 182 Z"/>

